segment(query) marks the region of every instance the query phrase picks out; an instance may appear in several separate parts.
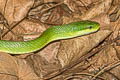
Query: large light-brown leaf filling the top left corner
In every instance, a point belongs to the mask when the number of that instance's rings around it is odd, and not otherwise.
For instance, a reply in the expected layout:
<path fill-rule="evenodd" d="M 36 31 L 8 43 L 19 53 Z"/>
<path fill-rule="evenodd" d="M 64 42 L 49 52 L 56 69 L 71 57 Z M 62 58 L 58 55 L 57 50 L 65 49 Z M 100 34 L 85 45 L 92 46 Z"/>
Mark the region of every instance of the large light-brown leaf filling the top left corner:
<path fill-rule="evenodd" d="M 7 19 L 8 24 L 19 22 L 28 13 L 33 6 L 34 0 L 2 0 L 0 4 L 0 12 Z"/>

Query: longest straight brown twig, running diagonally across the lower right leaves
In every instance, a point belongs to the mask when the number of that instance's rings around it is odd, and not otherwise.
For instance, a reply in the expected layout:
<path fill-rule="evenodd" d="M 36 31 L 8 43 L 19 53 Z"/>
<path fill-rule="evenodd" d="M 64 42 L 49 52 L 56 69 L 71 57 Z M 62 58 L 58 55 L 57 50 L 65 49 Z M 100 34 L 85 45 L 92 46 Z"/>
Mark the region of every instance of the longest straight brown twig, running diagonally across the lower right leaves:
<path fill-rule="evenodd" d="M 118 38 L 115 38 L 112 42 L 108 42 L 107 44 L 105 44 L 104 46 L 100 47 L 99 49 L 97 49 L 97 50 L 95 50 L 95 51 L 91 51 L 90 53 L 82 56 L 77 62 L 73 63 L 72 65 L 67 66 L 67 67 L 64 67 L 64 68 L 62 68 L 62 69 L 60 69 L 60 70 L 56 70 L 56 71 L 52 72 L 50 76 L 48 76 L 48 77 L 46 77 L 46 78 L 44 78 L 44 79 L 45 79 L 45 80 L 49 80 L 49 79 L 52 79 L 52 78 L 54 78 L 54 77 L 59 76 L 59 75 L 62 74 L 63 72 L 65 72 L 65 71 L 67 71 L 67 70 L 75 67 L 77 64 L 79 64 L 79 63 L 81 63 L 82 61 L 87 60 L 89 57 L 95 55 L 96 53 L 98 53 L 99 51 L 101 51 L 102 49 L 104 49 L 107 45 L 113 43 L 113 42 L 116 41 L 116 40 L 118 40 Z"/>

